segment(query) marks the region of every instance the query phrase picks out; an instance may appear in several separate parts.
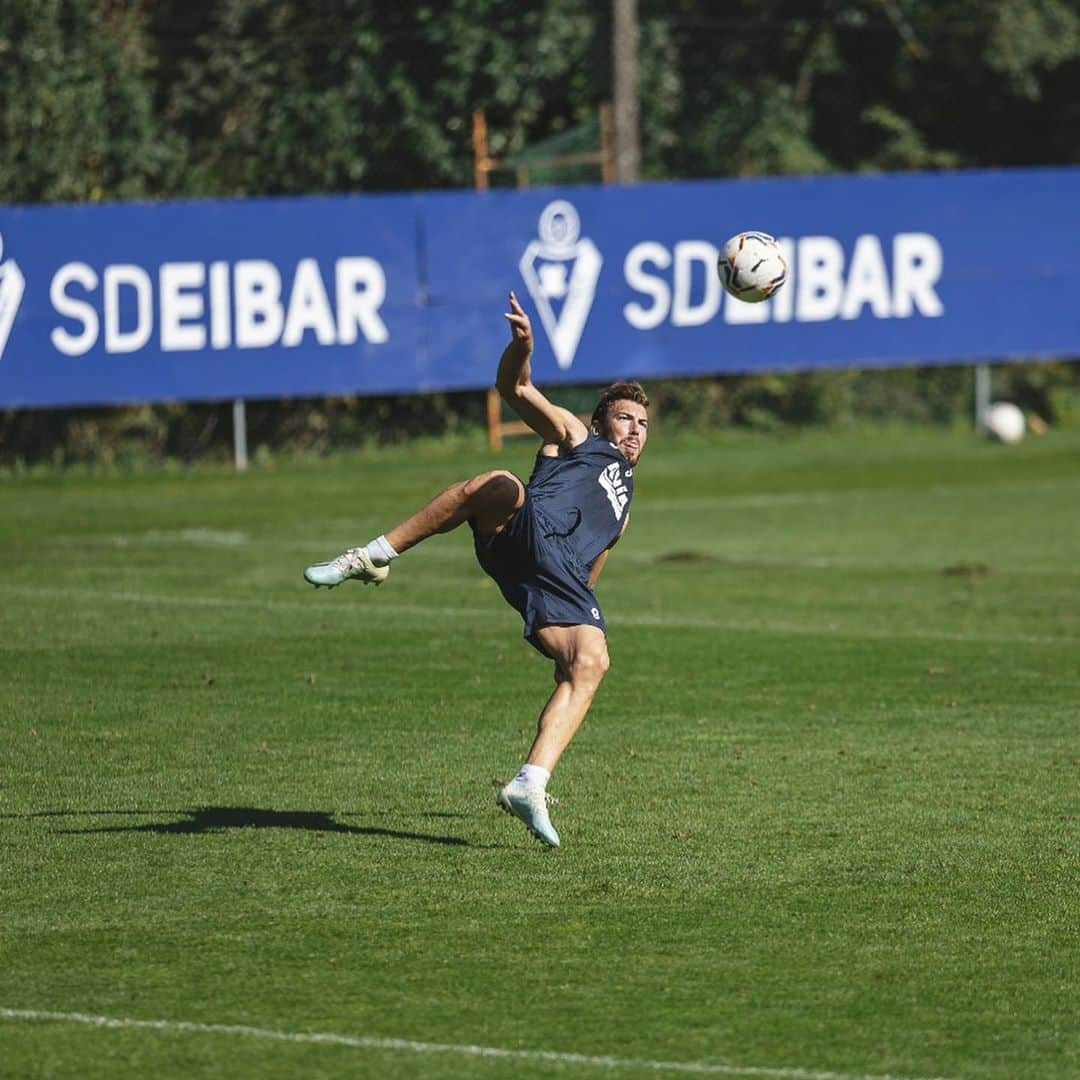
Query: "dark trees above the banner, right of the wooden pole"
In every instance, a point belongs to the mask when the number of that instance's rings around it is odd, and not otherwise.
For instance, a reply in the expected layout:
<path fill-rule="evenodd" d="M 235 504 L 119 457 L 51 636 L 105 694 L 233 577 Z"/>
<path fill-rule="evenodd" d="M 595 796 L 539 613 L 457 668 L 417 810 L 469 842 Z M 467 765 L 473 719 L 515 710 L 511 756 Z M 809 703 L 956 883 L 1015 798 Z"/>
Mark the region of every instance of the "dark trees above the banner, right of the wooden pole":
<path fill-rule="evenodd" d="M 678 176 L 1080 160 L 1077 0 L 656 3 Z"/>

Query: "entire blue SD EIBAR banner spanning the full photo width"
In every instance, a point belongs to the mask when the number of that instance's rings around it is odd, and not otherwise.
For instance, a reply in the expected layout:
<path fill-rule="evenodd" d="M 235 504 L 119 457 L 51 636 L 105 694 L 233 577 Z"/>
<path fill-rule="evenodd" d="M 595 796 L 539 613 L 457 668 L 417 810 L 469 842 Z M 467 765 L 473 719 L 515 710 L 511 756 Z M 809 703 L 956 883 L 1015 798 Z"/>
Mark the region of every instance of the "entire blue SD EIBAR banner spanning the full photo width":
<path fill-rule="evenodd" d="M 1080 170 L 0 207 L 0 406 L 1080 354 Z M 728 297 L 718 248 L 791 272 Z"/>

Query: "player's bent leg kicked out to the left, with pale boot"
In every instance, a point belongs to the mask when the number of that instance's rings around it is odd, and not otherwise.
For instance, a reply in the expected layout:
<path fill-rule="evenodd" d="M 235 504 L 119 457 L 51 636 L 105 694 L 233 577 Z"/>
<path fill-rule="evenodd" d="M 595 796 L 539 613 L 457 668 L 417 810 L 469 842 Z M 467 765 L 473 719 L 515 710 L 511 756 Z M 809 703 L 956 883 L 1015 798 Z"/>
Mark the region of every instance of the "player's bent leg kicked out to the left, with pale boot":
<path fill-rule="evenodd" d="M 309 566 L 303 571 L 305 580 L 315 588 L 327 589 L 350 578 L 379 585 L 390 573 L 390 563 L 421 540 L 449 532 L 468 521 L 475 523 L 482 536 L 490 536 L 510 521 L 524 501 L 525 488 L 513 473 L 502 469 L 481 473 L 451 484 L 415 514 L 364 546 L 350 548 L 336 558 Z"/>

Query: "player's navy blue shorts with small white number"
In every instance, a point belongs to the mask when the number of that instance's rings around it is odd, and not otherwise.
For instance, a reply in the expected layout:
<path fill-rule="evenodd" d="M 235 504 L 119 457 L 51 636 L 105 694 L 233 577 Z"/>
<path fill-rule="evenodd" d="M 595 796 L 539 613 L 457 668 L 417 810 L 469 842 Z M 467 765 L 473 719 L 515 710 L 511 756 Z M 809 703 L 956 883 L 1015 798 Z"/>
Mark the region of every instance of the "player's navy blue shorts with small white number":
<path fill-rule="evenodd" d="M 544 626 L 598 626 L 607 633 L 596 594 L 589 588 L 589 567 L 528 491 L 501 532 L 482 537 L 474 529 L 473 542 L 476 561 L 525 620 L 525 637 L 541 652 L 534 635 Z"/>

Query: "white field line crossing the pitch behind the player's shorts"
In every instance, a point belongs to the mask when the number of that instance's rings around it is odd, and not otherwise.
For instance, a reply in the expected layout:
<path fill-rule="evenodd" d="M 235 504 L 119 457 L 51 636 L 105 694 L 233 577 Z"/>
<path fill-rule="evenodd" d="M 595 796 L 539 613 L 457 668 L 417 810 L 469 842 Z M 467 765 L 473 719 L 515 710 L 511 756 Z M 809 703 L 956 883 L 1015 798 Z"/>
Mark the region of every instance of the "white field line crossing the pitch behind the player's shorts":
<path fill-rule="evenodd" d="M 148 607 L 189 607 L 218 608 L 239 611 L 302 611 L 328 618 L 359 616 L 363 619 L 373 618 L 419 618 L 432 619 L 490 619 L 505 620 L 509 608 L 494 595 L 487 607 L 440 606 L 426 604 L 388 604 L 376 602 L 357 606 L 341 604 L 333 609 L 318 607 L 312 597 L 311 603 L 302 600 L 246 600 L 227 596 L 165 596 L 154 593 L 135 593 L 120 590 L 97 589 L 56 589 L 48 585 L 0 585 L 0 595 L 4 593 L 19 596 L 37 596 L 42 599 L 86 599 L 95 603 L 143 604 Z M 870 630 L 865 626 L 849 629 L 836 623 L 784 623 L 775 621 L 750 621 L 740 619 L 710 619 L 705 616 L 666 616 L 666 615 L 622 615 L 612 619 L 612 625 L 631 626 L 653 630 L 704 630 L 724 631 L 735 634 L 795 634 L 807 637 L 859 637 L 869 640 L 922 640 L 922 642 L 968 642 L 984 645 L 1058 645 L 1075 648 L 1076 638 L 1071 636 L 1050 637 L 1035 634 L 966 634 L 949 631 L 921 630 Z M 0 644 L 0 649 L 3 645 Z"/>

